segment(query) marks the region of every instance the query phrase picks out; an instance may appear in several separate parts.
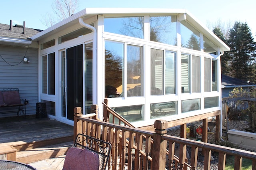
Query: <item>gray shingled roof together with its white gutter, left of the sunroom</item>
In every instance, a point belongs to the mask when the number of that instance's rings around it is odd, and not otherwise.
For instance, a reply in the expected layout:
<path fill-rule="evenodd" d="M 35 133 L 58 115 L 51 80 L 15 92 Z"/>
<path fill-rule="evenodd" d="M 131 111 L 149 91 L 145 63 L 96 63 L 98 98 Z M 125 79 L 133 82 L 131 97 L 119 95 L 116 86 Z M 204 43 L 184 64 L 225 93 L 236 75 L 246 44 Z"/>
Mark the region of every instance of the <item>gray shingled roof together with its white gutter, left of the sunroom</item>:
<path fill-rule="evenodd" d="M 12 30 L 10 30 L 10 25 L 0 24 L 0 44 L 26 46 L 31 44 L 30 37 L 42 30 L 25 28 L 25 34 L 23 34 L 23 31 L 23 26 L 12 26 Z"/>

